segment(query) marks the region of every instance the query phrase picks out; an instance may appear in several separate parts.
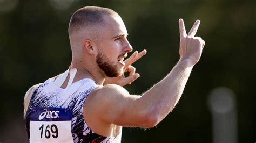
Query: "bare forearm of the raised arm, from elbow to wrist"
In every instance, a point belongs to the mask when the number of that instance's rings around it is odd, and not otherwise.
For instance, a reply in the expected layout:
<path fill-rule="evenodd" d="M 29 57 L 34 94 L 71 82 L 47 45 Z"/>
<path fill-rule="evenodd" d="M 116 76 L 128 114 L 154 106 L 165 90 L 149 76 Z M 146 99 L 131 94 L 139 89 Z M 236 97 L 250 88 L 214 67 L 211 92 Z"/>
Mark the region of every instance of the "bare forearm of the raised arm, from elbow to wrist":
<path fill-rule="evenodd" d="M 179 61 L 172 71 L 139 99 L 140 108 L 161 121 L 178 103 L 193 66 L 188 60 Z"/>

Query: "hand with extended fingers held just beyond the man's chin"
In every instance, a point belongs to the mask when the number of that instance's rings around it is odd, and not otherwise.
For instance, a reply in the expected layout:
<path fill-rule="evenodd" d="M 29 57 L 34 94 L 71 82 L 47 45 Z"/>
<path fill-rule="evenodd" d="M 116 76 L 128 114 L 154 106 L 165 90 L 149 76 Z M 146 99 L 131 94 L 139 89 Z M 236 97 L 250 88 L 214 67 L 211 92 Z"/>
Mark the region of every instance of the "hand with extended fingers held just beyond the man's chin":
<path fill-rule="evenodd" d="M 142 56 L 144 56 L 146 53 L 147 51 L 145 49 L 140 53 L 135 51 L 128 59 L 124 61 L 124 73 L 129 72 L 129 76 L 125 77 L 123 73 L 118 77 L 107 77 L 103 85 L 117 84 L 123 87 L 124 85 L 131 84 L 133 81 L 137 80 L 137 78 L 139 78 L 139 74 L 135 73 L 136 68 L 132 66 L 132 63 L 142 58 Z"/>

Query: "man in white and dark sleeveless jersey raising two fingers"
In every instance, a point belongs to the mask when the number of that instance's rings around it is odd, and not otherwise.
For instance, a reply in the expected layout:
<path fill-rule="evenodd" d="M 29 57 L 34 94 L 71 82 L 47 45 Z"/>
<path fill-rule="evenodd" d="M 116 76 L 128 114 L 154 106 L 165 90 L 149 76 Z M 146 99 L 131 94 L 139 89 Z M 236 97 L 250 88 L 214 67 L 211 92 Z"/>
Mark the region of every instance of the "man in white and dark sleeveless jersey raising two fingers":
<path fill-rule="evenodd" d="M 25 95 L 30 141 L 120 142 L 123 126 L 156 126 L 179 101 L 191 70 L 200 59 L 205 42 L 194 37 L 199 23 L 197 20 L 186 34 L 184 22 L 179 19 L 177 65 L 150 90 L 136 96 L 120 85 L 139 77 L 131 63 L 146 51 L 134 52 L 125 63 L 132 47 L 121 17 L 113 10 L 95 6 L 77 10 L 69 24 L 69 70 L 35 85 Z M 124 71 L 130 72 L 130 80 L 124 80 Z"/>

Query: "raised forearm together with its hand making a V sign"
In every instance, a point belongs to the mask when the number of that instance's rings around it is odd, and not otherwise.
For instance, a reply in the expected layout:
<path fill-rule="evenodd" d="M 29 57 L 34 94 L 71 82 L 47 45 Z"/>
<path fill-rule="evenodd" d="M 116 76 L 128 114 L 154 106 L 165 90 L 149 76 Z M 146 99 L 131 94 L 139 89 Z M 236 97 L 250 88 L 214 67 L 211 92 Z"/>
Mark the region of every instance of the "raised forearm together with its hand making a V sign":
<path fill-rule="evenodd" d="M 172 71 L 159 83 L 145 92 L 138 99 L 140 105 L 152 106 L 149 114 L 153 116 L 153 123 L 157 124 L 173 110 L 178 103 L 185 88 L 193 66 L 199 61 L 205 41 L 200 37 L 194 37 L 200 21 L 197 20 L 191 31 L 186 34 L 184 22 L 179 20 L 180 27 L 180 60 Z M 144 107 L 143 107 L 144 108 Z"/>

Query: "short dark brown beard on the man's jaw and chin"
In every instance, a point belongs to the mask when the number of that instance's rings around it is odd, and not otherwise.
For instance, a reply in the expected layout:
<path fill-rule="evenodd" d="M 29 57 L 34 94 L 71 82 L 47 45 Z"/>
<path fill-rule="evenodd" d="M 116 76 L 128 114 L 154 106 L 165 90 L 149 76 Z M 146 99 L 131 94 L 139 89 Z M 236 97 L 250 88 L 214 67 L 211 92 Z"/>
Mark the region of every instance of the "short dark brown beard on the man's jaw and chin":
<path fill-rule="evenodd" d="M 102 52 L 98 52 L 96 56 L 96 63 L 98 67 L 104 71 L 107 77 L 117 77 L 122 75 L 121 70 L 118 70 L 117 63 L 111 63 L 107 61 L 106 56 Z"/>

